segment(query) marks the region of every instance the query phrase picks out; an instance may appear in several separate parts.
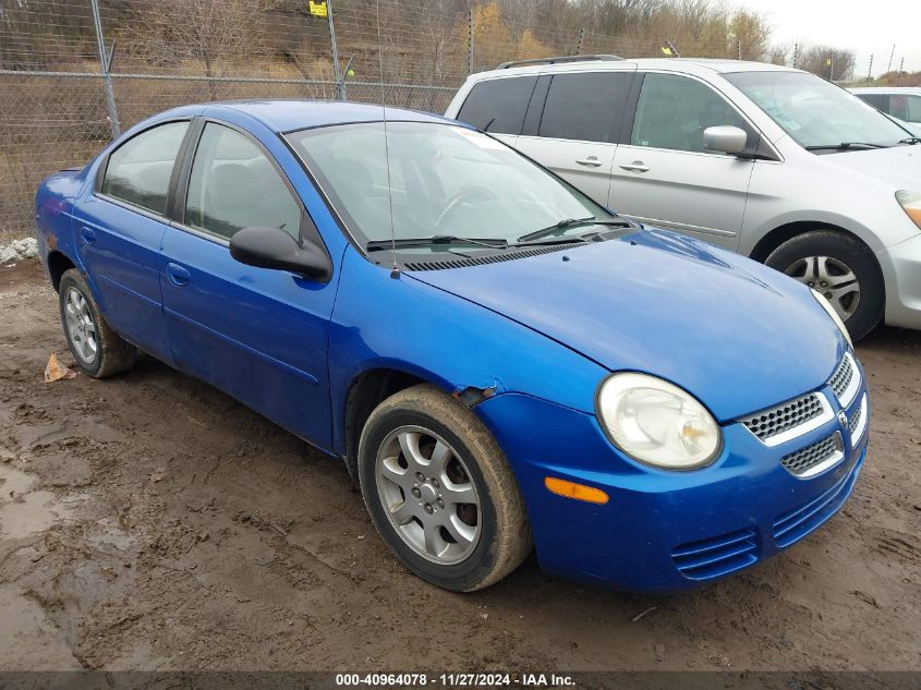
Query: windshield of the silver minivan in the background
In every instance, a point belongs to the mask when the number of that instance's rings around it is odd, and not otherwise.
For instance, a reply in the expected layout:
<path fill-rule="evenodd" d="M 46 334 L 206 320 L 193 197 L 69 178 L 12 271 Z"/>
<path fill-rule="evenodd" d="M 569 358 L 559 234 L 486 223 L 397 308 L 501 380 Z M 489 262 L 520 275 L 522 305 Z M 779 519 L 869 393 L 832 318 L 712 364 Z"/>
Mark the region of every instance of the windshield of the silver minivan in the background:
<path fill-rule="evenodd" d="M 872 106 L 814 74 L 768 71 L 724 76 L 801 146 L 893 146 L 908 136 Z"/>

